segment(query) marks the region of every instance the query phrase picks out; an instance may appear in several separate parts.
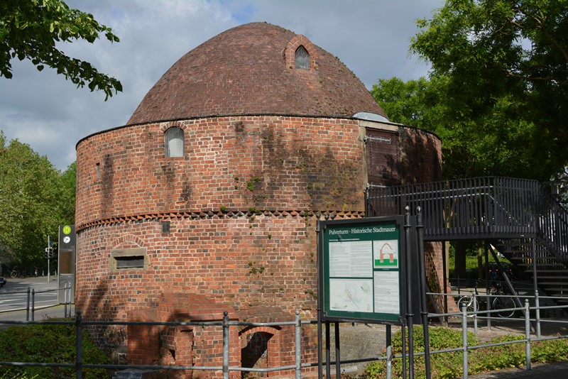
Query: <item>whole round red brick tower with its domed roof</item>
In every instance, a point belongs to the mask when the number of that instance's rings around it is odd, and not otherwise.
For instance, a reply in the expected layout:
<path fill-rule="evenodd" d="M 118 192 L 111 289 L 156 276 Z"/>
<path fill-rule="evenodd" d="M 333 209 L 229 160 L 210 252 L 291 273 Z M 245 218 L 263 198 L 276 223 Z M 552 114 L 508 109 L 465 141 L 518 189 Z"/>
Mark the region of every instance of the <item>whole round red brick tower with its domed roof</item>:
<path fill-rule="evenodd" d="M 337 57 L 268 23 L 232 28 L 175 62 L 126 126 L 77 143 L 77 309 L 313 319 L 317 220 L 364 217 L 367 185 L 440 179 L 439 138 L 388 122 Z M 268 334 L 268 357 L 286 350 Z M 163 358 L 138 357 L 135 335 L 129 361 Z"/>

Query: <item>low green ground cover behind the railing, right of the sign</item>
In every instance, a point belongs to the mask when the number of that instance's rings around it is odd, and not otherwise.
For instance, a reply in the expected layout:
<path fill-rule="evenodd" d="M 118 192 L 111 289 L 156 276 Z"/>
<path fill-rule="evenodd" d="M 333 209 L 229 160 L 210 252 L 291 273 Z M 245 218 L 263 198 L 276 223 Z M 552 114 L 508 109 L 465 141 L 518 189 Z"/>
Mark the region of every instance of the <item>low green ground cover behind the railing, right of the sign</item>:
<path fill-rule="evenodd" d="M 424 351 L 424 339 L 422 326 L 414 327 L 414 351 L 415 353 Z M 407 336 L 408 339 L 408 336 Z M 429 329 L 430 351 L 439 351 L 449 348 L 459 348 L 461 343 L 461 330 L 449 329 L 444 327 L 431 327 Z M 496 344 L 505 341 L 518 341 L 524 336 L 498 336 L 486 344 Z M 398 331 L 393 335 L 393 355 L 402 353 L 401 333 Z M 474 334 L 467 334 L 469 346 L 480 345 L 480 341 Z M 408 346 L 408 345 L 407 345 Z M 530 344 L 532 363 L 550 363 L 566 361 L 568 359 L 568 340 L 552 339 L 547 341 L 535 341 Z M 393 378 L 402 378 L 402 360 L 393 359 L 392 374 Z M 407 359 L 408 363 L 408 359 Z M 484 373 L 487 371 L 501 370 L 503 368 L 524 367 L 525 344 L 508 344 L 502 346 L 491 346 L 488 348 L 477 348 L 468 351 L 468 373 Z M 423 357 L 415 357 L 415 378 L 425 378 L 425 363 Z M 440 378 L 461 378 L 463 366 L 463 353 L 453 351 L 449 353 L 437 353 L 430 356 L 430 367 L 432 379 Z M 364 373 L 359 378 L 384 378 L 386 375 L 386 361 L 369 363 Z"/>

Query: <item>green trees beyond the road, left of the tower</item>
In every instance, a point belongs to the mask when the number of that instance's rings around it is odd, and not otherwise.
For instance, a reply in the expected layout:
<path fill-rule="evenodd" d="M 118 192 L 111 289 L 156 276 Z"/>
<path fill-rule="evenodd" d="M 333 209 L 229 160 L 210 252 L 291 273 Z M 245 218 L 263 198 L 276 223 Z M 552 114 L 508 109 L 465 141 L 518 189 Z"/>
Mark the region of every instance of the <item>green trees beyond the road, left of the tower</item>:
<path fill-rule="evenodd" d="M 45 156 L 0 131 L 0 259 L 31 269 L 40 265 L 48 236 L 75 212 L 74 165 L 62 175 Z"/>

